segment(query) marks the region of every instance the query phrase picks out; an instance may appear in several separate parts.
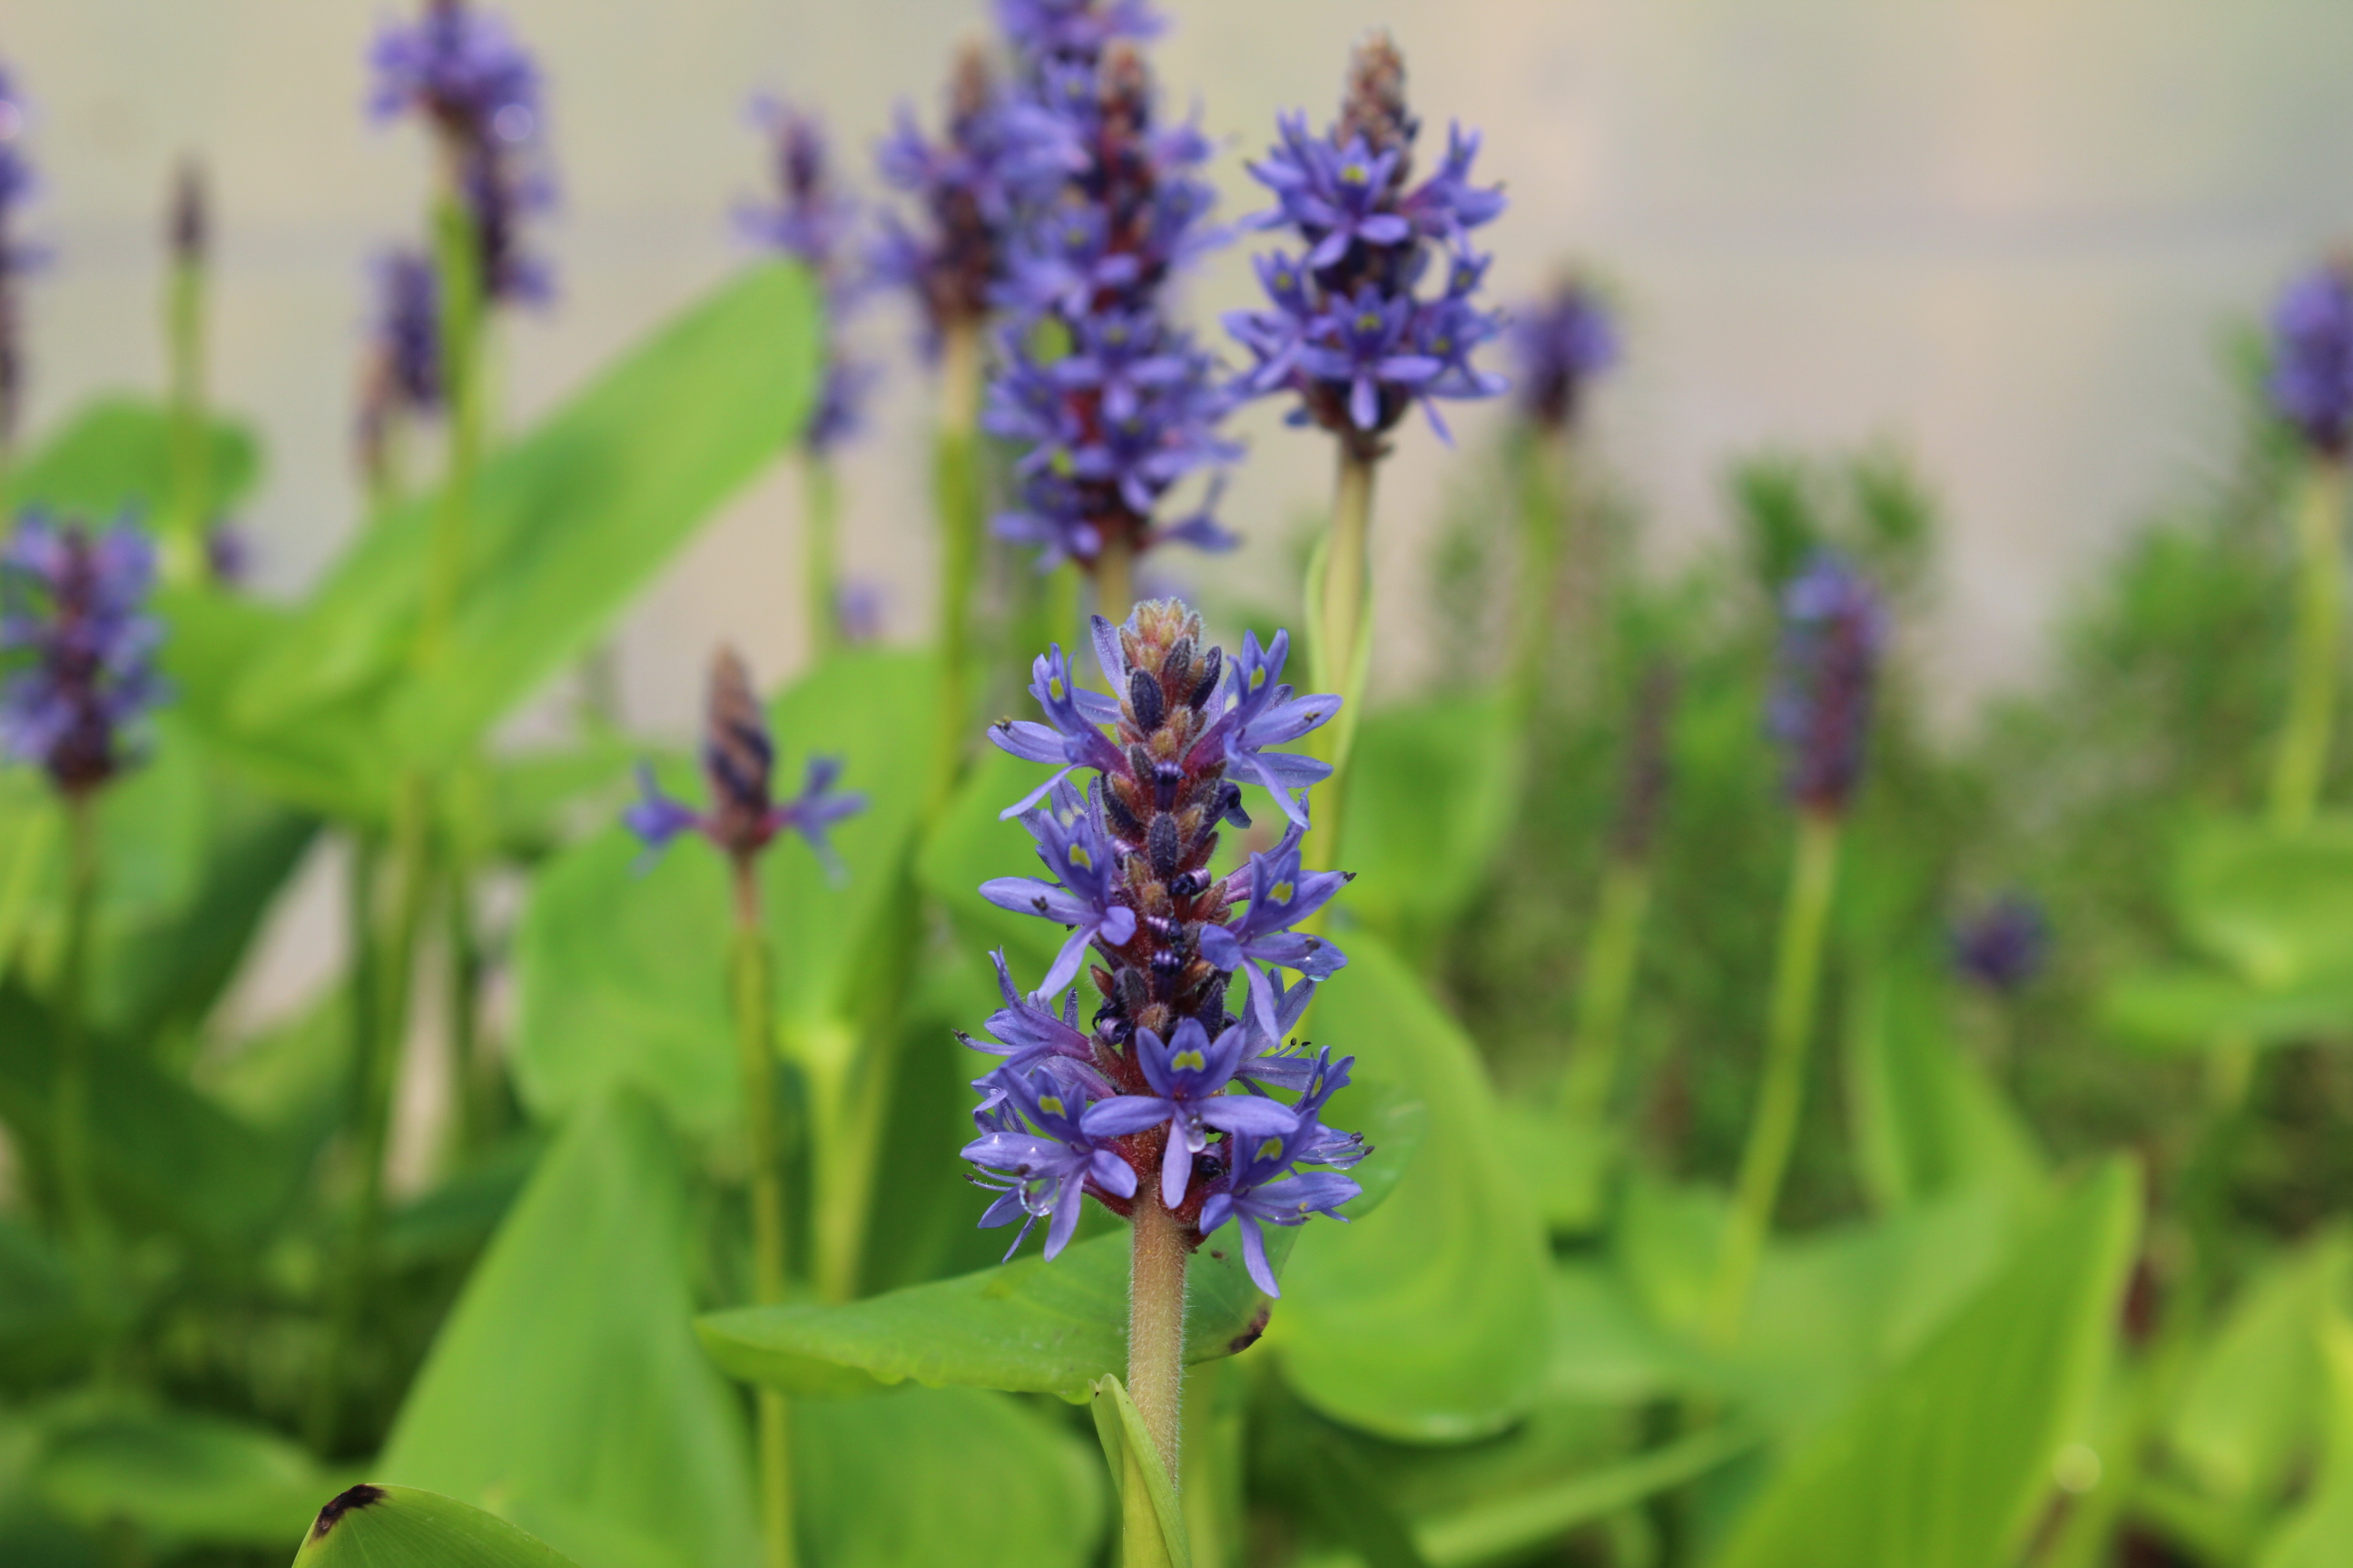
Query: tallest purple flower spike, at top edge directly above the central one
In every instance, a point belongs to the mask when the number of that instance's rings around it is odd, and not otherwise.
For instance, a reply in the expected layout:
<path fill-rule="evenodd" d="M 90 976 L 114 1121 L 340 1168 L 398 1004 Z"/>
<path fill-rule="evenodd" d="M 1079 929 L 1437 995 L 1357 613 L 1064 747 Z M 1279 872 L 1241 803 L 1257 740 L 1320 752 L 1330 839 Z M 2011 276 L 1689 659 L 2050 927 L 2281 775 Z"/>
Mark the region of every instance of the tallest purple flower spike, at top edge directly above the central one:
<path fill-rule="evenodd" d="M 1209 501 L 1176 520 L 1169 489 L 1233 461 L 1217 423 L 1233 404 L 1214 357 L 1167 317 L 1169 277 L 1214 235 L 1214 193 L 1200 179 L 1209 143 L 1193 125 L 1155 125 L 1153 82 L 1132 42 L 1144 7 L 1019 5 L 1033 56 L 1026 127 L 1031 165 L 1052 186 L 1033 202 L 995 289 L 1007 308 L 1002 371 L 984 425 L 1026 447 L 1019 503 L 1000 538 L 1038 545 L 1040 567 L 1094 569 L 1108 548 L 1160 543 L 1224 550 L 1235 541 Z"/>

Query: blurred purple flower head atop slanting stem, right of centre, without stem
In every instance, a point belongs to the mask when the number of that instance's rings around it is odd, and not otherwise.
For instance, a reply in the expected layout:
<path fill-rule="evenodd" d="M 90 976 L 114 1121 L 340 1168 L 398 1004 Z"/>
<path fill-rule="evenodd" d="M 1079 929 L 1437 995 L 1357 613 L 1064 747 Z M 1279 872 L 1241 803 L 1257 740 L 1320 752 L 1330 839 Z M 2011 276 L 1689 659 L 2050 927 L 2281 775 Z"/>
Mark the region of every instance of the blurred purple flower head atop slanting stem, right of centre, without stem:
<path fill-rule="evenodd" d="M 1805 811 L 1838 816 L 1861 783 L 1885 642 L 1878 592 L 1840 555 L 1819 552 L 1781 590 L 1767 726 L 1788 750 L 1788 792 Z"/>

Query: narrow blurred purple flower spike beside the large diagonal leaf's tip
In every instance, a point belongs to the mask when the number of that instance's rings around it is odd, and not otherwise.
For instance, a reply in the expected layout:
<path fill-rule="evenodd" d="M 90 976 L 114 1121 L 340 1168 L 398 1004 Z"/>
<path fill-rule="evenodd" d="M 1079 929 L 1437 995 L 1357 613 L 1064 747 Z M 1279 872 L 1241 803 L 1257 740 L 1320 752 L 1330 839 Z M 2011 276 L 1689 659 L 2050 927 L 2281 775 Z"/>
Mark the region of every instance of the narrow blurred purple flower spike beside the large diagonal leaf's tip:
<path fill-rule="evenodd" d="M 826 127 L 814 115 L 762 94 L 753 101 L 753 122 L 769 141 L 776 202 L 746 207 L 739 214 L 744 233 L 807 266 L 824 289 L 826 364 L 816 407 L 800 430 L 800 444 L 821 456 L 856 433 L 859 409 L 878 374 L 842 346 L 842 322 L 864 282 L 852 249 L 859 207 L 833 179 Z"/>

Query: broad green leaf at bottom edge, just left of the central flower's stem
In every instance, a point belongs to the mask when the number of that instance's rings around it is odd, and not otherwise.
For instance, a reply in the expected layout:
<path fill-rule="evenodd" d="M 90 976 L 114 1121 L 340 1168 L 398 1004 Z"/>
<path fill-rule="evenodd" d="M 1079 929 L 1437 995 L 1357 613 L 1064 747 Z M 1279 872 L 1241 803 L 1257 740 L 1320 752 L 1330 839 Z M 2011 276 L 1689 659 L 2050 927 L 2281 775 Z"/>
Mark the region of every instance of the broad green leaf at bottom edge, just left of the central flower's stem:
<path fill-rule="evenodd" d="M 1104 1535 L 1094 1453 L 1066 1422 L 984 1389 L 795 1401 L 793 1490 L 802 1561 L 824 1568 L 1085 1568 Z"/>

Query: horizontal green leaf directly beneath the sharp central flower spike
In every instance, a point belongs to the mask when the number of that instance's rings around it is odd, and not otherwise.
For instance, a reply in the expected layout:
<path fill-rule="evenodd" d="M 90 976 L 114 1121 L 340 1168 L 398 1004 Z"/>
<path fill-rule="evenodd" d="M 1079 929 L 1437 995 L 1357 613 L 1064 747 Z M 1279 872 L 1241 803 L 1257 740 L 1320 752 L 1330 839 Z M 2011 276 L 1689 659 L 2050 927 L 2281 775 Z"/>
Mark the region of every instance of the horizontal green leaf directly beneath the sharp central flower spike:
<path fill-rule="evenodd" d="M 1278 1269 L 1292 1234 L 1268 1234 Z M 1268 1300 L 1231 1234 L 1193 1253 L 1186 1281 L 1186 1361 L 1249 1349 Z M 795 1394 L 856 1394 L 913 1378 L 1075 1401 L 1127 1366 L 1127 1232 L 1073 1241 L 1052 1262 L 1031 1253 L 845 1305 L 736 1307 L 699 1328 L 722 1368 Z"/>

